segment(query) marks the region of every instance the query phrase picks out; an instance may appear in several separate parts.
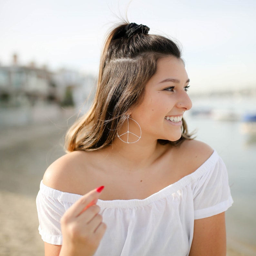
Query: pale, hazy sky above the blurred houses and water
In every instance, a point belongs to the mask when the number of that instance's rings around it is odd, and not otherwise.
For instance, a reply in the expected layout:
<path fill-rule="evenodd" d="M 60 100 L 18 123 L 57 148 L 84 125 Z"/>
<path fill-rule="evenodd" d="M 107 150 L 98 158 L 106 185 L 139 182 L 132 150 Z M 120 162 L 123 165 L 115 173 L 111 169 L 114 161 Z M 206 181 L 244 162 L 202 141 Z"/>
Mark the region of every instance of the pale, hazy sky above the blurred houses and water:
<path fill-rule="evenodd" d="M 191 91 L 256 88 L 255 0 L 0 0 L 0 63 L 17 53 L 20 64 L 97 74 L 127 8 L 130 22 L 182 44 Z"/>

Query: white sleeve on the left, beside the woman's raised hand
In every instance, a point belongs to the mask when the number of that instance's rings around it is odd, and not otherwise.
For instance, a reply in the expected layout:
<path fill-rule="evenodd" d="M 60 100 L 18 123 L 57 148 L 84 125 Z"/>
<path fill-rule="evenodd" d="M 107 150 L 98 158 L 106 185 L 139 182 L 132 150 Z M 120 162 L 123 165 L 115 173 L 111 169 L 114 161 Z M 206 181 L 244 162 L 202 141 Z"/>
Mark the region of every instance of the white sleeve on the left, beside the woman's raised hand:
<path fill-rule="evenodd" d="M 54 190 L 45 186 L 41 181 L 36 197 L 36 207 L 39 220 L 38 230 L 44 242 L 62 244 L 60 219 L 80 197 L 80 195 Z"/>

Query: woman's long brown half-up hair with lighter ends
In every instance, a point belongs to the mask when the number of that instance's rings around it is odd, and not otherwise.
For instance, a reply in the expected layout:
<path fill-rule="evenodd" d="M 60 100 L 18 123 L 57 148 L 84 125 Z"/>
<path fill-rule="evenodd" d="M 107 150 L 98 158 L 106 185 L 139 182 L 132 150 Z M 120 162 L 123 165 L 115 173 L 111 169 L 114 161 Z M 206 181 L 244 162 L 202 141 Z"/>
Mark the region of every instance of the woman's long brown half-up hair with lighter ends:
<path fill-rule="evenodd" d="M 116 26 L 106 38 L 94 102 L 67 132 L 67 152 L 92 151 L 110 145 L 127 113 L 143 99 L 145 85 L 155 74 L 157 61 L 166 56 L 181 58 L 179 46 L 171 39 L 143 30 L 127 37 L 124 34 L 127 26 L 128 23 Z M 177 145 L 189 138 L 182 119 L 181 138 L 176 142 L 159 142 Z"/>

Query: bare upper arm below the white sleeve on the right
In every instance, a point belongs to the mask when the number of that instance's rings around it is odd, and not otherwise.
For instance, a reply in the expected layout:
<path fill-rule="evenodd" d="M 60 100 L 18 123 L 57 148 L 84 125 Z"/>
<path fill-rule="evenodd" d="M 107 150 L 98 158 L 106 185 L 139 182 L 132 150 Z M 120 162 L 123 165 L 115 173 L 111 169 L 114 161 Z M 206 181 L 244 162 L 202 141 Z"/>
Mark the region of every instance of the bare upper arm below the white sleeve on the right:
<path fill-rule="evenodd" d="M 189 256 L 226 256 L 225 212 L 194 221 Z"/>

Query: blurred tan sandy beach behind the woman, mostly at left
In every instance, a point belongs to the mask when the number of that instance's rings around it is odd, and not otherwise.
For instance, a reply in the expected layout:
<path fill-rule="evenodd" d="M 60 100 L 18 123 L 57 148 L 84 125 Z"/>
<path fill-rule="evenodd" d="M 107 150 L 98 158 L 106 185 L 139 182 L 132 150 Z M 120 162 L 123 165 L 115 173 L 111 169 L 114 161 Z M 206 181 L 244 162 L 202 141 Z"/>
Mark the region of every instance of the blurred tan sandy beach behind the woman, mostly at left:
<path fill-rule="evenodd" d="M 22 127 L 0 127 L 0 255 L 44 255 L 37 230 L 35 197 L 47 166 L 64 154 L 67 126 L 64 118 Z M 239 251 L 232 243 L 228 239 L 228 256 L 255 255 L 251 254 L 255 248 L 248 245 L 248 251 Z"/>

